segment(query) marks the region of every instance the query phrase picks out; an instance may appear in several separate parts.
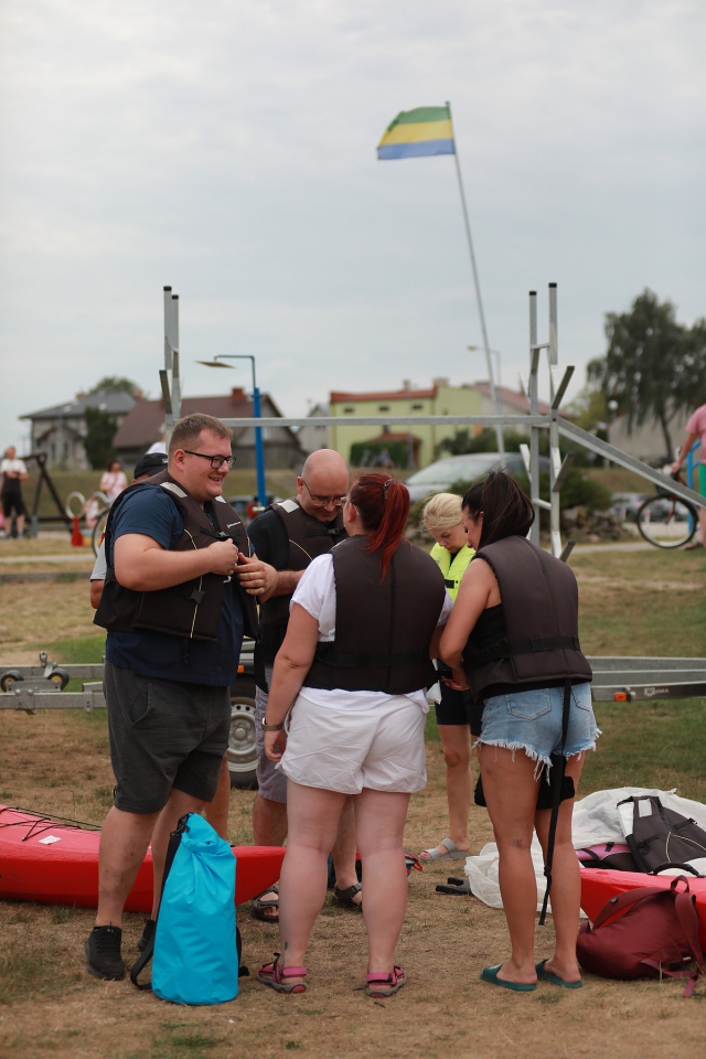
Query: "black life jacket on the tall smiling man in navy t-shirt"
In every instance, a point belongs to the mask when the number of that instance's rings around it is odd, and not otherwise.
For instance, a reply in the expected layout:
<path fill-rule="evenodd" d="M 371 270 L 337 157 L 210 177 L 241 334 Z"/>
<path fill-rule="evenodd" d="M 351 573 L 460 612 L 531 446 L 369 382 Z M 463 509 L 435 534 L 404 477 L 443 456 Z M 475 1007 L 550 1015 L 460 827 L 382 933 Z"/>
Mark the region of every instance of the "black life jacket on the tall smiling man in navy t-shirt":
<path fill-rule="evenodd" d="M 204 574 L 172 588 L 141 592 L 125 588 L 115 575 L 113 563 L 113 523 L 116 511 L 126 496 L 138 489 L 162 489 L 173 501 L 184 520 L 184 528 L 174 552 L 206 548 L 214 541 L 229 537 L 245 555 L 250 543 L 236 511 L 223 499 L 211 503 L 213 522 L 203 507 L 189 495 L 169 471 L 160 471 L 145 482 L 128 486 L 115 501 L 106 525 L 106 582 L 94 622 L 109 632 L 131 632 L 151 629 L 193 640 L 217 640 L 224 579 L 222 574 Z M 257 608 L 253 597 L 238 586 L 243 609 L 244 631 L 257 635 Z"/>

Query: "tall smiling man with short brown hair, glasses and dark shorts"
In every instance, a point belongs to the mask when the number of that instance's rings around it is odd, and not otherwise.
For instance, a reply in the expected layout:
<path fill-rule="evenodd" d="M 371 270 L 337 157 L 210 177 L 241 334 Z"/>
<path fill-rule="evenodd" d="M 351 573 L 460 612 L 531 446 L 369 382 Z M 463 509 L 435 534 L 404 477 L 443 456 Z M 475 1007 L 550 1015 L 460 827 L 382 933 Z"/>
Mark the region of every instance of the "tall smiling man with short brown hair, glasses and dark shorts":
<path fill-rule="evenodd" d="M 169 834 L 218 787 L 231 729 L 229 687 L 243 633 L 257 634 L 254 599 L 236 567 L 261 564 L 223 499 L 231 430 L 205 415 L 174 426 L 167 470 L 129 486 L 106 527 L 106 579 L 96 624 L 108 630 L 114 805 L 100 835 L 96 926 L 86 967 L 125 976 L 122 910 L 151 841 L 152 919 Z"/>

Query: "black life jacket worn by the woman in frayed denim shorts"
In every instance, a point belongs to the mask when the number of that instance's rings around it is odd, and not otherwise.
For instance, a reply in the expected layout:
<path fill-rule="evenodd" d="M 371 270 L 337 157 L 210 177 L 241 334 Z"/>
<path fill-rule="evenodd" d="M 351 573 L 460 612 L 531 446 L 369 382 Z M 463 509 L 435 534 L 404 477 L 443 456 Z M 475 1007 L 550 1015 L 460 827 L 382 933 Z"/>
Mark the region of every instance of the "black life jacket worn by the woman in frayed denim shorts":
<path fill-rule="evenodd" d="M 496 684 L 590 681 L 578 639 L 578 587 L 574 571 L 525 537 L 512 536 L 477 552 L 498 578 L 506 635 L 488 646 L 463 649 L 474 702 Z"/>

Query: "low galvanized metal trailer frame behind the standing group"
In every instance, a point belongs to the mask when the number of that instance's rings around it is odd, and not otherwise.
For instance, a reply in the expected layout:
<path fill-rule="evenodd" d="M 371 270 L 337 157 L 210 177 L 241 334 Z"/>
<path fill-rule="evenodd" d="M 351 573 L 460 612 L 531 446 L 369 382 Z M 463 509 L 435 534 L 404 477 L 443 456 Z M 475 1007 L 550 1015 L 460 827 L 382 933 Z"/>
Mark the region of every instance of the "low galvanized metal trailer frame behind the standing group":
<path fill-rule="evenodd" d="M 243 656 L 246 657 L 246 656 Z M 252 662 L 252 650 L 247 655 Z M 653 699 L 706 697 L 706 659 L 589 657 L 593 671 L 591 696 L 595 703 L 634 703 Z M 247 662 L 246 662 L 247 665 Z M 13 665 L 22 675 L 9 692 L 0 693 L 0 709 L 84 709 L 92 713 L 106 705 L 103 695 L 103 665 L 62 665 L 71 680 L 84 681 L 81 692 L 47 687 L 56 663 L 40 656 L 40 665 Z M 0 678 L 3 672 L 0 671 Z M 645 677 L 650 681 L 646 682 Z M 236 685 L 237 686 L 237 685 Z M 46 691 L 44 691 L 46 688 Z"/>

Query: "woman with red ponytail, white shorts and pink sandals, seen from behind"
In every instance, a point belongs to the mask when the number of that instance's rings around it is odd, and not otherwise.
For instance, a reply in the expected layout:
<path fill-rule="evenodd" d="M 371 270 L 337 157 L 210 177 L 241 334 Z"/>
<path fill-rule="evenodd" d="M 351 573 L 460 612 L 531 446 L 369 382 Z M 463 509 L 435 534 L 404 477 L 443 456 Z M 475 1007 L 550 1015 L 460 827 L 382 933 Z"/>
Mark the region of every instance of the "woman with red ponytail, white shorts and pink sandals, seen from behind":
<path fill-rule="evenodd" d="M 427 781 L 426 687 L 451 607 L 434 559 L 404 538 L 408 513 L 402 482 L 359 479 L 343 509 L 349 539 L 304 571 L 275 660 L 263 727 L 287 775 L 288 844 L 281 955 L 258 980 L 280 993 L 307 988 L 304 954 L 349 795 L 365 877 L 366 992 L 392 996 L 406 982 L 395 965 L 407 905 L 403 833 L 409 795 Z"/>

